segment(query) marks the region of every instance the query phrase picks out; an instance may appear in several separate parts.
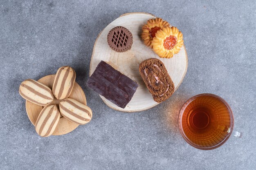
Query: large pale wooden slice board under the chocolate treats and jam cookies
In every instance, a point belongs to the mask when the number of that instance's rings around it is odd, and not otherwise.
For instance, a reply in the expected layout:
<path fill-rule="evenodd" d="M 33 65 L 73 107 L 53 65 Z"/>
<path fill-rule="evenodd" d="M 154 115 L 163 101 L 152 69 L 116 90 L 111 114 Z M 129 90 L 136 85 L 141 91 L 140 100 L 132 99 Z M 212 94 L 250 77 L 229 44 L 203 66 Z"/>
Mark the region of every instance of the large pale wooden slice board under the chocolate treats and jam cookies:
<path fill-rule="evenodd" d="M 146 85 L 143 82 L 143 79 L 139 74 L 139 64 L 146 59 L 157 58 L 164 63 L 169 75 L 171 76 L 171 79 L 174 82 L 175 91 L 182 83 L 188 66 L 188 58 L 185 46 L 182 46 L 180 53 L 175 54 L 173 58 L 170 59 L 160 58 L 153 52 L 152 49 L 150 49 L 150 47 L 145 46 L 140 38 L 141 28 L 144 24 L 146 24 L 147 20 L 151 18 L 156 17 L 149 13 L 123 14 L 111 22 L 108 26 L 106 26 L 106 28 L 103 29 L 103 31 L 101 31 L 101 33 L 98 35 L 98 38 L 94 43 L 92 59 L 90 63 L 90 75 L 92 75 L 99 62 L 103 60 L 139 84 L 137 91 L 124 109 L 116 106 L 112 102 L 108 101 L 105 97 L 100 95 L 103 101 L 110 108 L 122 112 L 139 112 L 159 104 L 153 100 L 152 95 L 149 93 Z M 132 33 L 133 44 L 129 51 L 118 53 L 108 46 L 108 32 L 115 26 L 124 26 Z"/>

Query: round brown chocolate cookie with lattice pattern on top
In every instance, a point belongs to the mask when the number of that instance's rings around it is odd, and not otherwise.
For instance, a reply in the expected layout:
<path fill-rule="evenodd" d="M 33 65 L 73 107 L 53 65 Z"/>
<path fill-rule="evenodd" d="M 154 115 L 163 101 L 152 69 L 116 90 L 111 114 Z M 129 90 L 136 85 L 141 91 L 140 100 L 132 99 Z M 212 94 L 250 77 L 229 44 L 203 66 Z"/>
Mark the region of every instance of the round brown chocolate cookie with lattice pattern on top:
<path fill-rule="evenodd" d="M 132 33 L 124 26 L 112 28 L 107 36 L 108 45 L 117 52 L 125 52 L 132 47 Z"/>

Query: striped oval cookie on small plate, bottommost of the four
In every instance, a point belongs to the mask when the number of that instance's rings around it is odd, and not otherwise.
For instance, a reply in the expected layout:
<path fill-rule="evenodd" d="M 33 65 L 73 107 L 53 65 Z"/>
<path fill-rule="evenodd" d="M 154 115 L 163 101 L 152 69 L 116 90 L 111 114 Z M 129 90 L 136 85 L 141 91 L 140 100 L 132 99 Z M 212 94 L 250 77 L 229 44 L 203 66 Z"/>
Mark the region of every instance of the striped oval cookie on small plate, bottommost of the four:
<path fill-rule="evenodd" d="M 58 121 L 60 120 L 60 117 L 61 114 L 56 104 L 43 108 L 36 120 L 35 129 L 38 135 L 41 137 L 51 136 L 58 124 Z"/>

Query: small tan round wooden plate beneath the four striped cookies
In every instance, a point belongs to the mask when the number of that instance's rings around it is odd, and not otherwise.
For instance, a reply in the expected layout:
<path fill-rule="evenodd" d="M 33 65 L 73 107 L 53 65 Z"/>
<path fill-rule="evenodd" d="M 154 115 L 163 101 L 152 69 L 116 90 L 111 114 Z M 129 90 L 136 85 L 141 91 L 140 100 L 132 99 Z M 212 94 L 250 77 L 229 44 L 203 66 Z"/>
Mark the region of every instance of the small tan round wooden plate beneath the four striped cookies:
<path fill-rule="evenodd" d="M 52 88 L 52 84 L 54 82 L 54 77 L 55 77 L 55 75 L 47 75 L 45 77 L 40 78 L 38 80 L 38 82 L 45 84 L 49 88 Z M 72 93 L 70 94 L 69 97 L 77 100 L 78 102 L 86 104 L 86 98 L 85 98 L 83 89 L 76 82 L 74 84 Z M 59 102 L 60 102 L 60 100 L 58 100 L 54 97 L 54 100 L 49 105 L 52 105 L 52 104 L 58 105 Z M 29 117 L 29 120 L 31 121 L 31 123 L 34 126 L 36 124 L 36 119 L 38 118 L 38 115 L 42 109 L 43 109 L 43 106 L 39 106 L 37 104 L 31 103 L 26 100 L 27 116 Z M 58 122 L 58 125 L 52 135 L 65 135 L 65 134 L 71 132 L 72 130 L 74 130 L 75 128 L 77 128 L 77 126 L 79 126 L 79 124 L 73 123 L 72 121 L 69 121 L 65 117 L 61 116 L 61 118 Z"/>

